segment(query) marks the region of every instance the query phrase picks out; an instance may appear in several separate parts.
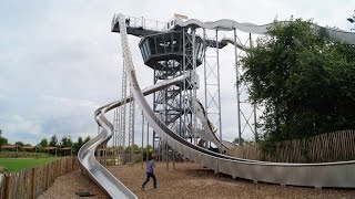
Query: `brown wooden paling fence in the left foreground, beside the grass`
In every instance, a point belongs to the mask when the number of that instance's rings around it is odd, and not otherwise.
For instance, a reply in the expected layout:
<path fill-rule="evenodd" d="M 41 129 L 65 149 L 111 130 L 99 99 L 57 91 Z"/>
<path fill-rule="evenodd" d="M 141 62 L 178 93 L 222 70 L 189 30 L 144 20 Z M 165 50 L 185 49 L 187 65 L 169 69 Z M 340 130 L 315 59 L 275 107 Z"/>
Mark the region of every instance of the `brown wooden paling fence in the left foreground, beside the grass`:
<path fill-rule="evenodd" d="M 50 164 L 0 176 L 0 199 L 34 199 L 45 191 L 57 177 L 79 168 L 77 157 L 57 159 Z"/>

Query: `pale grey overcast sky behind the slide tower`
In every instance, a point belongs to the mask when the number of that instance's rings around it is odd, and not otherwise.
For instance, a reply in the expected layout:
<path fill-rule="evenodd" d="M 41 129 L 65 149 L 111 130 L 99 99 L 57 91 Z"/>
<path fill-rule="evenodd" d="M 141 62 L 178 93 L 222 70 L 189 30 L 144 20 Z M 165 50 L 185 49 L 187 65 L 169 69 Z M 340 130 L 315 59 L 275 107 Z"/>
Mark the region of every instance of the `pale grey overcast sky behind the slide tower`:
<path fill-rule="evenodd" d="M 1 0 L 2 136 L 10 143 L 33 145 L 54 134 L 74 140 L 97 135 L 94 109 L 121 96 L 122 53 L 119 34 L 110 31 L 114 13 L 158 21 L 180 13 L 201 21 L 232 19 L 255 24 L 294 15 L 349 31 L 346 18 L 354 9 L 354 0 Z M 138 77 L 141 87 L 146 87 L 153 74 L 142 62 L 138 42 L 130 36 Z M 232 48 L 220 53 L 222 80 L 230 80 L 221 83 L 223 137 L 233 140 L 237 132 L 234 54 Z"/>

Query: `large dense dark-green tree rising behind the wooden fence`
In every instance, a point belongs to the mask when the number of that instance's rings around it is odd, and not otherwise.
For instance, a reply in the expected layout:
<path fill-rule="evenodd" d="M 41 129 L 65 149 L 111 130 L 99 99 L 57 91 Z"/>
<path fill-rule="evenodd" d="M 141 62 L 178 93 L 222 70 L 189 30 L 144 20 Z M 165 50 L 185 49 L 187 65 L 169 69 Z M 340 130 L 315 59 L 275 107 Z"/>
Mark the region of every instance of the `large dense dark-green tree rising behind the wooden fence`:
<path fill-rule="evenodd" d="M 355 46 L 325 40 L 311 21 L 275 21 L 242 62 L 250 101 L 265 107 L 266 140 L 343 129 L 355 119 Z"/>

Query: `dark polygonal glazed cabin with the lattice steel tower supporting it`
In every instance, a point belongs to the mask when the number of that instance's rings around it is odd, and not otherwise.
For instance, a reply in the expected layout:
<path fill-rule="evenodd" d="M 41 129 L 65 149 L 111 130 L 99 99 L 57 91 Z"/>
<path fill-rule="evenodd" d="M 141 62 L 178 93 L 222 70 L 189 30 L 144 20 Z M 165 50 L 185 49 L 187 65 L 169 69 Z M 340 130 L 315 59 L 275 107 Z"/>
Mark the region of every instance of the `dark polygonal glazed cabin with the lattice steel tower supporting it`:
<path fill-rule="evenodd" d="M 144 63 L 154 70 L 154 84 L 190 74 L 186 81 L 156 92 L 153 109 L 172 130 L 194 142 L 196 119 L 191 100 L 196 97 L 199 88 L 196 67 L 202 64 L 202 39 L 195 35 L 193 29 L 172 30 L 144 36 L 140 49 Z M 159 143 L 154 133 L 153 147 Z"/>

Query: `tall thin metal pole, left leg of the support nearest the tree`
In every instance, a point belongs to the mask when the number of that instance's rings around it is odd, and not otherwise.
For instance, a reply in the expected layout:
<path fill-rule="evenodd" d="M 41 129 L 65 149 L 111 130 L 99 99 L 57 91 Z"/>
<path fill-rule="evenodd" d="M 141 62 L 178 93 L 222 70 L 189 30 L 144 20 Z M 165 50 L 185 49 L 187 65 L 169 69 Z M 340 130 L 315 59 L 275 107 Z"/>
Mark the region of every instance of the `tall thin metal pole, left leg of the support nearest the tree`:
<path fill-rule="evenodd" d="M 234 29 L 234 60 L 235 60 L 235 88 L 236 88 L 236 108 L 237 108 L 237 133 L 239 133 L 239 145 L 242 145 L 242 126 L 241 126 L 241 98 L 240 98 L 240 72 L 239 72 L 239 60 L 237 60 L 237 48 L 236 43 L 236 29 Z"/>

